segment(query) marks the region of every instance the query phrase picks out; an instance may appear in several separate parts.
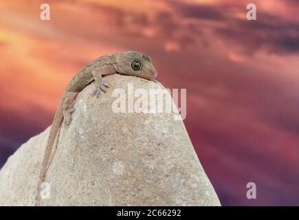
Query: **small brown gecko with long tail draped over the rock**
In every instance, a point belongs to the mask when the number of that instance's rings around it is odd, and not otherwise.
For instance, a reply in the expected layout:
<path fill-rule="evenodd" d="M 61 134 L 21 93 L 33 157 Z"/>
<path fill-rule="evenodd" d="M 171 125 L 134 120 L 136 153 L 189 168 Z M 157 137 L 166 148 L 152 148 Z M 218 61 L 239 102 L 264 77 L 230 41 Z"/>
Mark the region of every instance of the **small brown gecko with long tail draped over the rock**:
<path fill-rule="evenodd" d="M 71 114 L 74 112 L 76 96 L 78 96 L 82 89 L 94 81 L 96 88 L 93 92 L 93 96 L 98 98 L 101 91 L 106 92 L 109 88 L 109 84 L 102 80 L 102 76 L 110 74 L 124 74 L 154 80 L 157 76 L 157 71 L 153 67 L 150 56 L 146 56 L 140 52 L 126 51 L 96 58 L 87 66 L 83 67 L 78 74 L 71 79 L 60 100 L 49 131 L 45 155 L 39 175 L 36 206 L 39 206 L 41 200 L 41 184 L 45 180 L 47 169 L 52 159 L 52 149 L 56 135 L 63 121 L 67 126 L 71 123 Z"/>

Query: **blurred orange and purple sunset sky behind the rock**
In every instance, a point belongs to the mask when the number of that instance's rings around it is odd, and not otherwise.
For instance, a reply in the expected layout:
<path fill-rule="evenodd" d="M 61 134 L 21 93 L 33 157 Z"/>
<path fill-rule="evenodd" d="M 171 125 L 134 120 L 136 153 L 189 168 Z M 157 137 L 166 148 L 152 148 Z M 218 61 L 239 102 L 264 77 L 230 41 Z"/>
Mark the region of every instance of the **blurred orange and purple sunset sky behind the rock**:
<path fill-rule="evenodd" d="M 222 205 L 299 205 L 299 1 L 46 2 L 50 21 L 45 1 L 0 2 L 0 167 L 51 124 L 78 70 L 136 50 L 187 89 L 184 123 Z"/>

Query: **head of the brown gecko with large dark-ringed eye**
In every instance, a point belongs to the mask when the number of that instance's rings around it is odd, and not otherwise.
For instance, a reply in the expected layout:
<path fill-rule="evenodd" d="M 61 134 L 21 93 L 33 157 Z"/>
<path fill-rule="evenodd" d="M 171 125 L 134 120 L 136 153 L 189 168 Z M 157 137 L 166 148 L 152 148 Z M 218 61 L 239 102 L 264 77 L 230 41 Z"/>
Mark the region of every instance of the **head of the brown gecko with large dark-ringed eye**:
<path fill-rule="evenodd" d="M 153 80 L 157 71 L 153 67 L 151 57 L 140 52 L 120 52 L 116 54 L 117 71 L 120 74 L 138 76 Z"/>

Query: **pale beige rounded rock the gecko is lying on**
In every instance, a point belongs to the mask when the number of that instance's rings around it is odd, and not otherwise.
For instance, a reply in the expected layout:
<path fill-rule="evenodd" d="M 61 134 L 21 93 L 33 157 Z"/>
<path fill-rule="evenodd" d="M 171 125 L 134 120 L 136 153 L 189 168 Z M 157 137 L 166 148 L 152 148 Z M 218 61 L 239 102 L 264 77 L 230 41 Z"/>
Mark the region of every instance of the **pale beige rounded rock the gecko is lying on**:
<path fill-rule="evenodd" d="M 112 111 L 114 89 L 162 85 L 118 74 L 105 80 L 107 93 L 92 96 L 91 83 L 76 98 L 69 127 L 61 126 L 41 206 L 219 206 L 184 123 L 173 120 L 177 112 Z M 49 128 L 32 137 L 3 166 L 0 206 L 34 205 L 48 135 Z"/>

